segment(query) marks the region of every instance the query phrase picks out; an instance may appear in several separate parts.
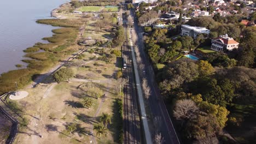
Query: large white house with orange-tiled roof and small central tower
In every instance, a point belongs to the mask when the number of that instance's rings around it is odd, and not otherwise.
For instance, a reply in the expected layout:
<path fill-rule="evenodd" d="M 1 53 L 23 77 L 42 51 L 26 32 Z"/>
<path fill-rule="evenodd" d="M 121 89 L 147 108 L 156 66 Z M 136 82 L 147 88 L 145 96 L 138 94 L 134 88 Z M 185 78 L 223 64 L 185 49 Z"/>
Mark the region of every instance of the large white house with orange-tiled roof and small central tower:
<path fill-rule="evenodd" d="M 220 35 L 218 38 L 212 39 L 211 49 L 214 51 L 232 51 L 238 48 L 239 43 L 233 38 L 228 37 L 228 34 Z"/>

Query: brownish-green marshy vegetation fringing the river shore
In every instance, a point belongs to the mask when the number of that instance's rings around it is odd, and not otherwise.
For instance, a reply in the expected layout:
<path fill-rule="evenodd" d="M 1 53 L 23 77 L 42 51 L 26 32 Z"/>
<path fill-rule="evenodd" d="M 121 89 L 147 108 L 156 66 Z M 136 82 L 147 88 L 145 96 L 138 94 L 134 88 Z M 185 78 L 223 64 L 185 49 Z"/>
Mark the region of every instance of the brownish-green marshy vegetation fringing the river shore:
<path fill-rule="evenodd" d="M 54 29 L 53 37 L 43 38 L 49 41 L 48 44 L 36 43 L 33 47 L 28 47 L 24 50 L 24 52 L 27 52 L 25 57 L 31 58 L 22 60 L 28 63 L 27 68 L 3 73 L 0 76 L 0 94 L 13 91 L 15 89 L 15 82 L 18 83 L 19 88 L 27 85 L 32 81 L 34 75 L 49 69 L 56 62 L 60 61 L 61 58 L 75 51 L 72 49 L 72 46 L 76 44 L 79 27 L 84 23 L 83 19 L 45 19 L 38 20 L 37 22 L 64 28 Z M 68 47 L 69 49 L 67 49 Z"/>

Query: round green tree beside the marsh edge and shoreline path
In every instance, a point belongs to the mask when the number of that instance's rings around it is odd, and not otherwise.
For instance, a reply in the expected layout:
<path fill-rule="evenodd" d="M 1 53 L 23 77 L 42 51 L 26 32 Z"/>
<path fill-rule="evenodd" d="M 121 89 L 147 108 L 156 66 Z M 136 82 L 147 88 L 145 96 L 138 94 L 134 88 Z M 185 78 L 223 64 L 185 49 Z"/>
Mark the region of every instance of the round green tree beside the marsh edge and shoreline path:
<path fill-rule="evenodd" d="M 57 82 L 69 81 L 72 76 L 74 76 L 74 73 L 71 68 L 62 68 L 53 75 Z"/>

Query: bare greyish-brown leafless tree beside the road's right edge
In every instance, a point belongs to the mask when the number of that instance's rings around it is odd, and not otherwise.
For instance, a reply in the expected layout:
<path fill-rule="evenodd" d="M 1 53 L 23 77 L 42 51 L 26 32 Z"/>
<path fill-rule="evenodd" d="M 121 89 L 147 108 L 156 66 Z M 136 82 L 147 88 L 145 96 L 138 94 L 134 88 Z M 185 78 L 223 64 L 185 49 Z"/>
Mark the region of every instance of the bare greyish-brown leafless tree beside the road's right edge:
<path fill-rule="evenodd" d="M 179 120 L 193 119 L 196 116 L 197 110 L 198 108 L 193 100 L 178 100 L 173 111 L 173 116 Z"/>

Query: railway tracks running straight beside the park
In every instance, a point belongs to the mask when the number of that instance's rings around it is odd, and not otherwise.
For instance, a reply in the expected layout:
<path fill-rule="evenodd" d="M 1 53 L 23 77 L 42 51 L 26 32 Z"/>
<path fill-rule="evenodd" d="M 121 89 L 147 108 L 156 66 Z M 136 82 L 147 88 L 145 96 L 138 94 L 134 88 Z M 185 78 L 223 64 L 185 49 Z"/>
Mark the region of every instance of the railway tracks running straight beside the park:
<path fill-rule="evenodd" d="M 123 16 L 126 20 L 126 16 Z M 122 57 L 125 59 L 126 68 L 123 69 L 123 76 L 128 80 L 124 86 L 124 143 L 141 143 L 141 130 L 139 127 L 139 115 L 137 106 L 137 95 L 132 69 L 132 58 L 127 37 L 127 25 L 124 23 L 125 42 L 122 46 Z"/>

